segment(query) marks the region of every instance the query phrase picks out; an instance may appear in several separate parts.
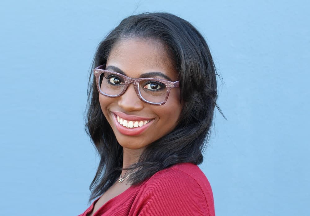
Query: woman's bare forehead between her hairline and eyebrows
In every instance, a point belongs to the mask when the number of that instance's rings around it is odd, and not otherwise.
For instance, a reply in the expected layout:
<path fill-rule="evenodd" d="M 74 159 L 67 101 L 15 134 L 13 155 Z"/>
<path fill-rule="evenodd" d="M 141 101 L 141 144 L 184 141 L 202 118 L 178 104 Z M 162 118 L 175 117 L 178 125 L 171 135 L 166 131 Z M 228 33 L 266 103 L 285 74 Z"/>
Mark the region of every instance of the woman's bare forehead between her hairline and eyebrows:
<path fill-rule="evenodd" d="M 117 42 L 106 63 L 106 66 L 110 65 L 118 67 L 131 78 L 154 71 L 174 81 L 177 78 L 165 47 L 152 39 L 130 38 Z"/>

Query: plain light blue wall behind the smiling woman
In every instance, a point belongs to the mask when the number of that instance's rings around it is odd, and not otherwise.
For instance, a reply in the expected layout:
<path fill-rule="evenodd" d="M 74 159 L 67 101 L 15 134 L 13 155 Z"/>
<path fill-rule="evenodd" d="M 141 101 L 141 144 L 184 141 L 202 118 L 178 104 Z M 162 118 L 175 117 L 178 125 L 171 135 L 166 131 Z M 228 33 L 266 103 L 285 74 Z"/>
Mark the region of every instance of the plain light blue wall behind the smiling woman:
<path fill-rule="evenodd" d="M 0 215 L 77 215 L 98 157 L 84 131 L 96 46 L 170 12 L 206 37 L 219 112 L 200 165 L 216 215 L 308 215 L 308 1 L 1 1 Z"/>

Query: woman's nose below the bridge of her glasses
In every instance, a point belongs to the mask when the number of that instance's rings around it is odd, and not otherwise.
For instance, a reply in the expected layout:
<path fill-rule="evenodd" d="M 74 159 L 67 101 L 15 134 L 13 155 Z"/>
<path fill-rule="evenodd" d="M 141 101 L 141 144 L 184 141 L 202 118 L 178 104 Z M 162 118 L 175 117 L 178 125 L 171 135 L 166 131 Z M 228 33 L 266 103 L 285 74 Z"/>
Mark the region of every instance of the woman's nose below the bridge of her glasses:
<path fill-rule="evenodd" d="M 118 106 L 128 112 L 142 110 L 144 107 L 144 102 L 138 97 L 133 84 L 129 84 L 126 91 L 118 97 L 117 103 Z"/>

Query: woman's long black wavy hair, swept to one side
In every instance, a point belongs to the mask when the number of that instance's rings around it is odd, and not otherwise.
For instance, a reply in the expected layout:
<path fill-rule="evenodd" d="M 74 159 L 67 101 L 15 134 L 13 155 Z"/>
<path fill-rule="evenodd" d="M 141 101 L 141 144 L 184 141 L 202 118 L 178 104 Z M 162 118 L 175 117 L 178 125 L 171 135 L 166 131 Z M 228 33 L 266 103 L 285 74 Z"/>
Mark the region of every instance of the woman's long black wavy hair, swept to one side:
<path fill-rule="evenodd" d="M 143 13 L 123 19 L 98 45 L 93 68 L 106 64 L 113 46 L 125 38 L 153 39 L 164 45 L 175 71 L 179 72 L 184 104 L 175 129 L 149 144 L 139 161 L 129 168 L 139 172 L 132 174 L 128 181 L 139 184 L 174 164 L 202 162 L 214 108 L 219 109 L 216 104 L 217 73 L 205 39 L 189 22 L 169 13 Z M 123 162 L 122 146 L 102 113 L 92 72 L 85 129 L 100 155 L 100 163 L 90 185 L 91 201 L 119 178 Z"/>

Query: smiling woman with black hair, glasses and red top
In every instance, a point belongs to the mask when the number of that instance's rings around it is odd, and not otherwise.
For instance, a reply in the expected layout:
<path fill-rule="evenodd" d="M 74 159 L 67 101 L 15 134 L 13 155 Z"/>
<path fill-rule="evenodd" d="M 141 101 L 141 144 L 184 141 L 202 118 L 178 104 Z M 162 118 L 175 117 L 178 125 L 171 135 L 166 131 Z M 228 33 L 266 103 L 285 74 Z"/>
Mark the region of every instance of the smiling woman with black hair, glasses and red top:
<path fill-rule="evenodd" d="M 198 168 L 216 105 L 201 34 L 168 13 L 130 16 L 100 43 L 86 131 L 100 154 L 81 215 L 214 215 Z"/>

